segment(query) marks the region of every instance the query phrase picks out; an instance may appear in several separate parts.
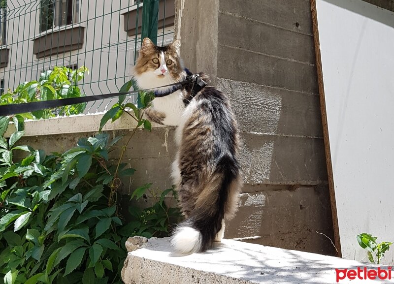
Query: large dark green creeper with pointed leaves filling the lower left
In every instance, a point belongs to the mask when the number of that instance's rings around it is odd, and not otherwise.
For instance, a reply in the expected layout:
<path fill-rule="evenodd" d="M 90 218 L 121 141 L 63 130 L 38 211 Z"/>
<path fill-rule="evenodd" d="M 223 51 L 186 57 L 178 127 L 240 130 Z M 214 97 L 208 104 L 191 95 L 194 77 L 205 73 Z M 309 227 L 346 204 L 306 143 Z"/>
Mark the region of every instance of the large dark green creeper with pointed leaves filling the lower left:
<path fill-rule="evenodd" d="M 122 87 L 130 88 L 130 82 Z M 151 96 L 142 96 L 146 106 Z M 142 118 L 143 108 L 123 101 L 113 109 L 119 106 L 117 112 L 136 120 L 127 136 L 80 138 L 63 154 L 19 145 L 27 116 L 0 117 L 0 284 L 120 284 L 126 239 L 168 234 L 179 216 L 164 202 L 173 189 L 160 192 L 143 185 L 131 198 L 150 192 L 157 202 L 143 210 L 130 206 L 129 222 L 121 214 L 117 191 L 121 179 L 135 171 L 121 160 L 137 129 L 151 128 Z M 120 117 L 113 113 L 104 115 L 101 127 Z M 9 121 L 16 131 L 5 139 Z M 116 148 L 121 154 L 114 162 L 109 153 Z"/>

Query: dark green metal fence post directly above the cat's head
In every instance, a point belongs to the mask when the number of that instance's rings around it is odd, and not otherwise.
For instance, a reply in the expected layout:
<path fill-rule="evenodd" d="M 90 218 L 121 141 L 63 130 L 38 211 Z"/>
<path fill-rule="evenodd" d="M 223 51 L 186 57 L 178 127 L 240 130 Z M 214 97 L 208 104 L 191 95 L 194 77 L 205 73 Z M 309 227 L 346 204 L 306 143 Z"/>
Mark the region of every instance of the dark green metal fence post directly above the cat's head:
<path fill-rule="evenodd" d="M 142 11 L 141 41 L 149 37 L 154 44 L 157 44 L 159 0 L 144 0 Z M 139 95 L 137 104 L 138 107 L 142 107 Z"/>

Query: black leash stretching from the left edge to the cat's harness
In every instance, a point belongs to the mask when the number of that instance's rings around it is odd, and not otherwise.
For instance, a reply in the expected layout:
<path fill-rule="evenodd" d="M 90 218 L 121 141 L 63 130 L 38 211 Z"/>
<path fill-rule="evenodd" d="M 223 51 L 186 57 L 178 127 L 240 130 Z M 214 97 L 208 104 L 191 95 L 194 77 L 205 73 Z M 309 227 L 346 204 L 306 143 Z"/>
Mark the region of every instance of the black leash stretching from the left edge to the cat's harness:
<path fill-rule="evenodd" d="M 187 70 L 189 71 L 189 70 Z M 190 73 L 190 71 L 189 71 Z M 192 87 L 193 90 L 197 90 L 200 86 L 205 87 L 206 83 L 202 81 L 201 79 L 198 78 L 198 74 L 188 74 L 186 77 L 186 80 L 177 82 L 177 83 L 172 83 L 168 85 L 164 85 L 162 87 L 158 88 L 164 88 L 164 87 L 171 87 L 174 86 L 174 88 L 171 88 L 169 91 L 171 93 L 164 92 L 154 92 L 156 97 L 162 97 L 165 95 L 172 94 L 176 90 L 181 89 L 183 86 L 193 83 L 194 86 L 197 87 Z M 202 81 L 204 84 L 196 84 L 197 81 Z M 202 87 L 202 88 L 203 88 Z M 0 116 L 7 116 L 7 115 L 14 115 L 14 114 L 20 114 L 20 113 L 26 113 L 26 112 L 33 112 L 41 109 L 47 109 L 47 108 L 57 108 L 57 107 L 62 107 L 66 105 L 72 105 L 72 104 L 78 104 L 78 103 L 83 103 L 83 102 L 90 102 L 90 101 L 95 101 L 99 99 L 106 99 L 106 98 L 111 98 L 115 96 L 120 96 L 120 95 L 132 95 L 132 94 L 138 94 L 138 92 L 141 91 L 151 91 L 155 90 L 158 88 L 151 88 L 151 89 L 144 89 L 144 90 L 135 90 L 131 92 L 123 92 L 123 93 L 111 93 L 111 94 L 104 94 L 104 95 L 89 95 L 89 96 L 81 96 L 81 97 L 70 97 L 70 98 L 62 98 L 62 99 L 54 99 L 54 100 L 45 100 L 45 101 L 35 101 L 35 102 L 27 102 L 27 103 L 18 103 L 18 104 L 7 104 L 7 105 L 0 105 Z M 200 88 L 198 92 L 202 89 Z M 196 92 L 195 94 L 197 94 Z"/>

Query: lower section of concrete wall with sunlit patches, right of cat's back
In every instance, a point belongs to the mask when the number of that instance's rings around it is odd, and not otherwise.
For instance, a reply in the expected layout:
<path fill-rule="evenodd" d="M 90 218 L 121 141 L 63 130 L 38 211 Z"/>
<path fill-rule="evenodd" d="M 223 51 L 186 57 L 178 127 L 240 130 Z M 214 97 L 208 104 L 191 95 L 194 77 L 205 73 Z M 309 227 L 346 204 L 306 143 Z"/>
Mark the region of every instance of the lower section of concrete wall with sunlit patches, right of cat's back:
<path fill-rule="evenodd" d="M 218 78 L 240 129 L 244 186 L 226 238 L 334 255 L 319 95 Z M 318 233 L 319 232 L 319 233 Z"/>

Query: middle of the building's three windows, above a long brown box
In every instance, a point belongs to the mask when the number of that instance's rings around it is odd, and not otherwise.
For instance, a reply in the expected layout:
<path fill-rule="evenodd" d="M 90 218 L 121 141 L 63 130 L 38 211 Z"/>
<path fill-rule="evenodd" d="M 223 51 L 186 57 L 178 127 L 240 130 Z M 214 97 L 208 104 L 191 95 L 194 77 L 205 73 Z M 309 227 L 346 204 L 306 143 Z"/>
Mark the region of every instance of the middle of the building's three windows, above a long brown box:
<path fill-rule="evenodd" d="M 80 0 L 41 0 L 40 32 L 78 23 Z"/>

